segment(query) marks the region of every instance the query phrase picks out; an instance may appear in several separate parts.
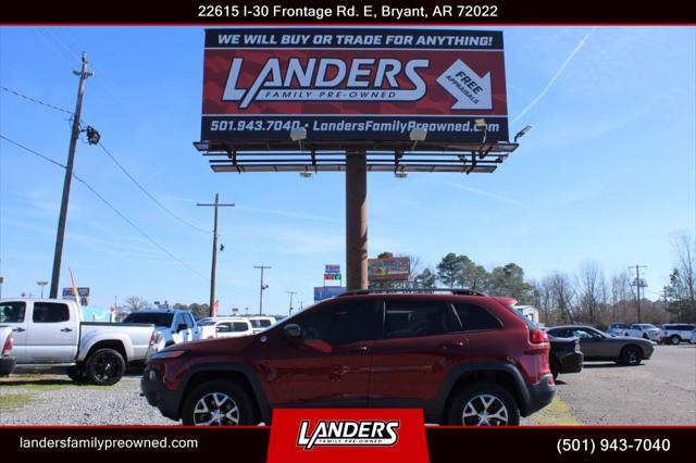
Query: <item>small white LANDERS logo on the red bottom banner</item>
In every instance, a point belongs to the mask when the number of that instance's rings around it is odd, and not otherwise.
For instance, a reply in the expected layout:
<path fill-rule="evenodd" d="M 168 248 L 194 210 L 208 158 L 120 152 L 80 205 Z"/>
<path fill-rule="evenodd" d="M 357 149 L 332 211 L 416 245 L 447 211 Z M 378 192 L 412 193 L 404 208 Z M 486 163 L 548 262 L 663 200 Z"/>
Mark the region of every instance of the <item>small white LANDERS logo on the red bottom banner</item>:
<path fill-rule="evenodd" d="M 315 446 L 370 446 L 390 447 L 399 440 L 396 431 L 400 421 L 326 421 L 320 420 L 312 431 L 310 421 L 300 423 L 300 431 L 297 436 L 297 447 L 311 450 Z"/>

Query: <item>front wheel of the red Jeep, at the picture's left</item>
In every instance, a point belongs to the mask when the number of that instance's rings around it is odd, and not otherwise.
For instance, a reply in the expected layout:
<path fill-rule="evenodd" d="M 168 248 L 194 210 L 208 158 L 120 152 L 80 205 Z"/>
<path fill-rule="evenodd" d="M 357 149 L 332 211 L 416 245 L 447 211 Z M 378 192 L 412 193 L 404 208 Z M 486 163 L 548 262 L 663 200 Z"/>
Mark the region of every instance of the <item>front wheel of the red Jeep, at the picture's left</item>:
<path fill-rule="evenodd" d="M 259 423 L 253 401 L 236 383 L 212 380 L 198 385 L 184 399 L 182 422 L 187 426 L 243 426 Z"/>

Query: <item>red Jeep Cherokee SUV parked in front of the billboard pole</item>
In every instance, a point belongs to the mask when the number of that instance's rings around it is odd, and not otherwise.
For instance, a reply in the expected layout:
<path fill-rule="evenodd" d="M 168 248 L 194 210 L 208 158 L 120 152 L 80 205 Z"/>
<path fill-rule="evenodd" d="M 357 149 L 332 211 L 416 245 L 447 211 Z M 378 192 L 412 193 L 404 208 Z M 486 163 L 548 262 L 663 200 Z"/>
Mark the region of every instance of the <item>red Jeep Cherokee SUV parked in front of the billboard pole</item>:
<path fill-rule="evenodd" d="M 556 392 L 546 334 L 512 299 L 358 291 L 257 335 L 172 346 L 141 389 L 186 425 L 271 422 L 276 408 L 414 408 L 426 423 L 517 425 Z"/>

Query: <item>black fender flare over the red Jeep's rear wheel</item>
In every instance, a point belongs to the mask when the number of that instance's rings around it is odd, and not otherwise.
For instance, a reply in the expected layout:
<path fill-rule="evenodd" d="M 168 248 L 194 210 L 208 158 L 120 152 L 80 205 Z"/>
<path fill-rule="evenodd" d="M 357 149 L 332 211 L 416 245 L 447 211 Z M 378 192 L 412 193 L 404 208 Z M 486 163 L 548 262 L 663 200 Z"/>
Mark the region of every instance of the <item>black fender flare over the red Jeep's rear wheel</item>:
<path fill-rule="evenodd" d="M 452 388 L 457 384 L 457 381 L 464 375 L 477 372 L 500 372 L 506 373 L 509 377 L 512 378 L 515 390 L 511 390 L 510 393 L 515 399 L 521 399 L 520 403 L 520 414 L 522 416 L 526 416 L 529 414 L 531 397 L 530 391 L 524 383 L 524 378 L 520 371 L 511 363 L 506 362 L 471 362 L 471 363 L 461 363 L 459 365 L 452 366 L 449 371 L 445 380 L 443 381 L 443 386 L 440 387 L 439 393 L 437 395 L 437 408 L 438 415 L 443 416 L 446 412 L 445 406 L 447 405 L 447 400 L 449 399 L 450 393 L 452 392 Z"/>

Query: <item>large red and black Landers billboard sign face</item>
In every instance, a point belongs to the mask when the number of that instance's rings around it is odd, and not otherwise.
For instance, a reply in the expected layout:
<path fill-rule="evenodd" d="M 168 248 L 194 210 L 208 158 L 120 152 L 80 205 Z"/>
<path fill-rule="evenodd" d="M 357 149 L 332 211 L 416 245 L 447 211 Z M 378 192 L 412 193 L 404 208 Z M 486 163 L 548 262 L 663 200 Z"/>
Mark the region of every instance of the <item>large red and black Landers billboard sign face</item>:
<path fill-rule="evenodd" d="M 501 32 L 207 29 L 203 66 L 203 141 L 509 138 Z"/>

